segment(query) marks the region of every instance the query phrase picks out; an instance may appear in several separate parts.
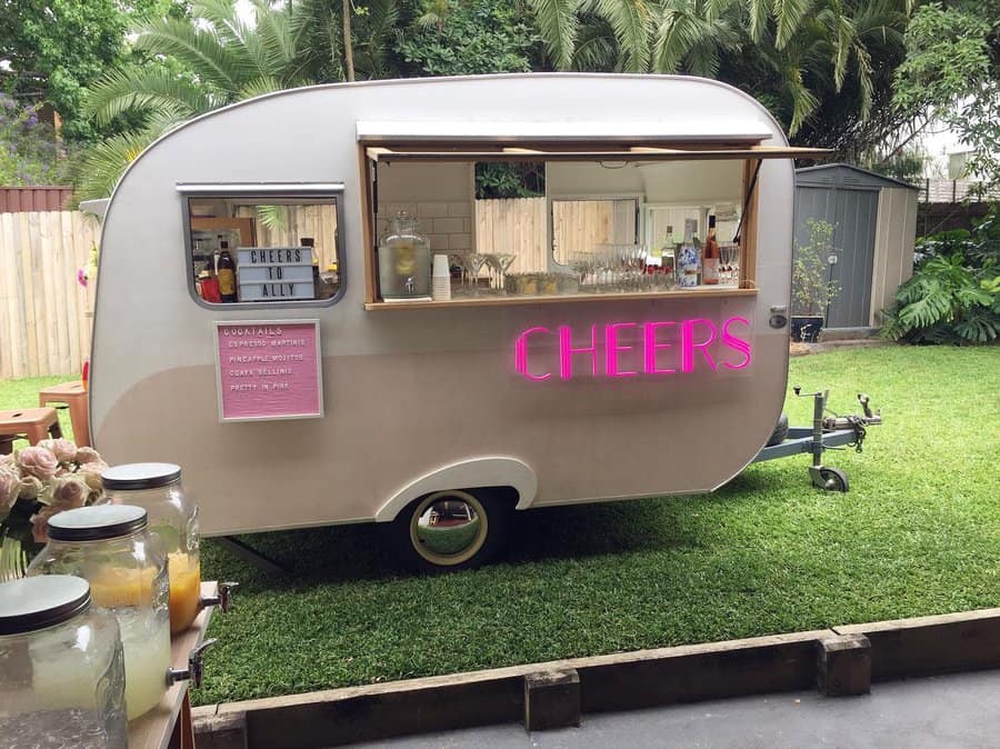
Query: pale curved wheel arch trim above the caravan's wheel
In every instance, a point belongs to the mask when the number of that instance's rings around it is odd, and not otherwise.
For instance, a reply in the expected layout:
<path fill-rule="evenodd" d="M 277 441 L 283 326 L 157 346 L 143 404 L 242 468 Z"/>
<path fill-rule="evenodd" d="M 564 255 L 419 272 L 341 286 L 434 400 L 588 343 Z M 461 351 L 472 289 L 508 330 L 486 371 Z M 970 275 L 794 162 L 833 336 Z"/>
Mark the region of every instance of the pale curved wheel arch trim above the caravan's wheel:
<path fill-rule="evenodd" d="M 518 495 L 517 509 L 531 506 L 538 492 L 538 477 L 526 462 L 506 456 L 460 460 L 436 468 L 411 481 L 390 497 L 376 512 L 376 522 L 391 522 L 414 499 L 434 491 L 511 487 Z"/>

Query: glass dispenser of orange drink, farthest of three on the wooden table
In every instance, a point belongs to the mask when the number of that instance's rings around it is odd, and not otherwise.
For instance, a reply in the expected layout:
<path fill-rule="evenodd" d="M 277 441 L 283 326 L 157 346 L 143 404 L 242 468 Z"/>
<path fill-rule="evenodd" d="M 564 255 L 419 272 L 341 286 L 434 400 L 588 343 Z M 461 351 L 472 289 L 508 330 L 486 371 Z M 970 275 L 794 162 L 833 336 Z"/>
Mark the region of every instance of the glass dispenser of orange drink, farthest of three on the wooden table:
<path fill-rule="evenodd" d="M 150 530 L 167 548 L 170 577 L 170 632 L 182 632 L 201 608 L 201 558 L 198 505 L 181 483 L 174 463 L 124 463 L 104 470 L 104 498 L 112 505 L 136 505 L 149 512 Z"/>

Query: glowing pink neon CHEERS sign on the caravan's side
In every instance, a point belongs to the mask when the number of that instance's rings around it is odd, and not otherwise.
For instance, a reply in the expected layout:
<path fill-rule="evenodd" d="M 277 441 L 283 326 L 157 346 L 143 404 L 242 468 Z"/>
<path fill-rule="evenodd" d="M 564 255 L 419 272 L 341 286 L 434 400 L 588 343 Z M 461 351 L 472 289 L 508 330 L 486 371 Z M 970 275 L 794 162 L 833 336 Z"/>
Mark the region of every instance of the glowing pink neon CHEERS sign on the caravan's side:
<path fill-rule="evenodd" d="M 690 373 L 698 368 L 718 371 L 746 369 L 752 356 L 747 340 L 750 321 L 731 317 L 717 326 L 707 318 L 662 322 L 611 322 L 590 326 L 582 334 L 569 326 L 528 328 L 514 342 L 514 367 L 529 380 L 543 381 L 558 374 L 574 377 L 638 377 L 640 374 Z M 741 333 L 741 334 L 738 334 Z M 529 346 L 548 349 L 548 360 Z M 726 360 L 717 362 L 719 347 Z M 558 358 L 552 352 L 558 349 Z M 712 351 L 716 351 L 714 356 Z M 737 354 L 730 361 L 730 352 Z"/>

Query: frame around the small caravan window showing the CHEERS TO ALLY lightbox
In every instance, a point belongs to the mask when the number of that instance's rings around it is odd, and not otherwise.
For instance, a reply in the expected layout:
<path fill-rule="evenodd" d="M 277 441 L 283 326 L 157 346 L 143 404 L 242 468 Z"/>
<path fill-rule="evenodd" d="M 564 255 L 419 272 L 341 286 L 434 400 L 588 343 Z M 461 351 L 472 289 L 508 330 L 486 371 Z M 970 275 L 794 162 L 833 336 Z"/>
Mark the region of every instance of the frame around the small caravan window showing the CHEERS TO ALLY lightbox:
<path fill-rule="evenodd" d="M 343 251 L 343 182 L 178 182 L 177 192 L 181 199 L 181 221 L 184 240 L 184 272 L 188 278 L 188 293 L 194 303 L 213 312 L 220 310 L 260 309 L 309 309 L 332 307 L 347 293 L 348 262 Z M 259 204 L 270 204 L 271 200 L 313 201 L 331 200 L 337 217 L 337 270 L 340 288 L 328 299 L 299 299 L 289 301 L 238 301 L 208 302 L 194 289 L 194 247 L 191 234 L 191 201 L 199 198 L 232 199 L 244 198 Z"/>

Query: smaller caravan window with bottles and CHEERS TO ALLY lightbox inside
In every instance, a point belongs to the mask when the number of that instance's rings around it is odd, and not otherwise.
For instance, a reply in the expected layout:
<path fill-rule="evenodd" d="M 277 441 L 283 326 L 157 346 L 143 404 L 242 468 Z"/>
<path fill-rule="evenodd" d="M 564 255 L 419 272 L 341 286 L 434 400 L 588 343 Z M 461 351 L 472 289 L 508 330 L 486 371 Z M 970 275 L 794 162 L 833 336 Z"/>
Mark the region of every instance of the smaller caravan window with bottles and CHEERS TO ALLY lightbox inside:
<path fill-rule="evenodd" d="M 203 306 L 342 296 L 342 186 L 181 184 L 190 290 Z"/>

